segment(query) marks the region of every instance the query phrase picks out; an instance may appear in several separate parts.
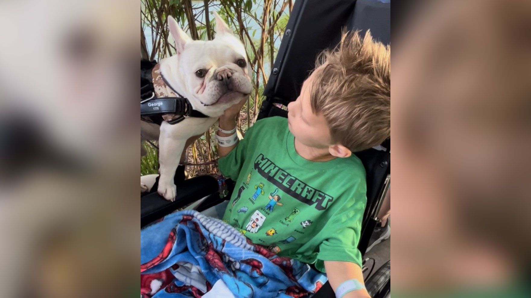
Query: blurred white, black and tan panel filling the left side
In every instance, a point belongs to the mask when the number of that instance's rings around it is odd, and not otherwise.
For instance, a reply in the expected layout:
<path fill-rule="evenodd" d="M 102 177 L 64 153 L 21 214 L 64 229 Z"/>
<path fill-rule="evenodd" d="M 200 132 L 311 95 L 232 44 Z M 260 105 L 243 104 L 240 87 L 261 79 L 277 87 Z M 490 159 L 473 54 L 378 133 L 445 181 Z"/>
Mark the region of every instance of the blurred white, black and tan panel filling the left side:
<path fill-rule="evenodd" d="M 138 9 L 0 2 L 2 297 L 138 295 Z"/>

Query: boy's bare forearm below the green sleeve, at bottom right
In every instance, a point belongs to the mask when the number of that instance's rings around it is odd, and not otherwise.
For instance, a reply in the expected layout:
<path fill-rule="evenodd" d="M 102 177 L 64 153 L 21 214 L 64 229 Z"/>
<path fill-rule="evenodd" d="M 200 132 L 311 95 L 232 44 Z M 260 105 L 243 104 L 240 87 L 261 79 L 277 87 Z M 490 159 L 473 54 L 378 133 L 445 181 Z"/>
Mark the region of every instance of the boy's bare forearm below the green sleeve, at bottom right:
<path fill-rule="evenodd" d="M 344 261 L 324 261 L 324 268 L 327 271 L 328 281 L 334 292 L 337 287 L 349 279 L 357 279 L 359 283 L 365 285 L 363 282 L 362 269 L 353 262 Z M 354 290 L 346 293 L 343 298 L 370 298 L 367 290 Z"/>

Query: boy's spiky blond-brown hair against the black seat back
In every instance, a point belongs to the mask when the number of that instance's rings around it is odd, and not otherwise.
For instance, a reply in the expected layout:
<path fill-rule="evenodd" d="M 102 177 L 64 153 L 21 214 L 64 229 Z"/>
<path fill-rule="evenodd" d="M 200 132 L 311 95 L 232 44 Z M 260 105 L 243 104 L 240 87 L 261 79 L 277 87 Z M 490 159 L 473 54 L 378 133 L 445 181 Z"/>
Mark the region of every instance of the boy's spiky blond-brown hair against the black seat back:
<path fill-rule="evenodd" d="M 391 133 L 391 51 L 358 31 L 343 33 L 335 49 L 316 60 L 310 102 L 328 122 L 332 142 L 356 152 Z M 319 67 L 319 68 L 317 68 Z"/>

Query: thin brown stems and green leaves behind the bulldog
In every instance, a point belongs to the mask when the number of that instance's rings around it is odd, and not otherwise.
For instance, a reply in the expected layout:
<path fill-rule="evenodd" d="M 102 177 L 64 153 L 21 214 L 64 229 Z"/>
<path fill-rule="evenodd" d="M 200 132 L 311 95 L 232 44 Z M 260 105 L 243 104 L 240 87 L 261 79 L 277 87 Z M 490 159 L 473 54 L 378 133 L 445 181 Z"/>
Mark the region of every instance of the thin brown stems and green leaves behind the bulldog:
<path fill-rule="evenodd" d="M 172 15 L 194 40 L 215 37 L 213 11 L 229 25 L 245 45 L 252 68 L 253 91 L 241 110 L 237 127 L 240 137 L 252 126 L 263 100 L 270 68 L 275 60 L 294 0 L 141 0 L 141 57 L 159 61 L 175 54 L 173 39 L 167 28 Z M 188 149 L 187 176 L 217 173 L 215 129 L 210 128 Z M 157 148 L 143 144 L 147 155 L 141 159 L 141 175 L 157 173 Z M 155 142 L 155 145 L 156 142 Z M 205 164 L 207 163 L 207 164 Z"/>

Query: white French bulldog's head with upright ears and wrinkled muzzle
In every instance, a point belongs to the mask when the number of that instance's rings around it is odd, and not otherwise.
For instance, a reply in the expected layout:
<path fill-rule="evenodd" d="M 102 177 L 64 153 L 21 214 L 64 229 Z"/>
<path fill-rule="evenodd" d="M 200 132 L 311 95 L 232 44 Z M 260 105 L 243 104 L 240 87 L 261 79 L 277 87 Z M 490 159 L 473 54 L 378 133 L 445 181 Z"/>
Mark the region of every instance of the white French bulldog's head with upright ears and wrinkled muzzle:
<path fill-rule="evenodd" d="M 178 84 L 196 109 L 212 117 L 247 98 L 252 89 L 251 67 L 242 42 L 217 14 L 215 18 L 216 38 L 202 41 L 191 40 L 168 17 L 177 51 L 169 59 L 172 78 L 168 81 Z"/>

